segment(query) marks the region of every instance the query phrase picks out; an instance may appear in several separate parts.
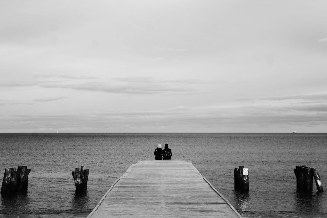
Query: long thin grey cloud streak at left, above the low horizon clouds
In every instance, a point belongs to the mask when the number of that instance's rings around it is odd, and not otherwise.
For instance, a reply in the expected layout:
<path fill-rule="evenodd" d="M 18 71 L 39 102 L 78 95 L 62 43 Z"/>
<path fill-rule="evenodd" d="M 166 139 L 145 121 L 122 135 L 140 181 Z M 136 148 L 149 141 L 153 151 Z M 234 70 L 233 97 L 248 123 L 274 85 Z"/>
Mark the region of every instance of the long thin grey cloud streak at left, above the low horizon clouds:
<path fill-rule="evenodd" d="M 125 93 L 125 94 L 156 94 L 163 92 L 198 92 L 195 85 L 209 84 L 199 79 L 163 80 L 148 76 L 116 77 L 109 80 L 88 76 L 66 76 L 66 75 L 35 75 L 45 78 L 41 81 L 20 81 L 2 83 L 2 87 L 32 87 L 61 88 L 79 91 Z M 53 78 L 66 78 L 70 80 L 52 80 Z M 82 80 L 88 80 L 83 82 Z M 90 81 L 90 79 L 92 79 Z M 35 99 L 41 101 L 42 99 Z M 58 100 L 58 99 L 55 99 Z"/>

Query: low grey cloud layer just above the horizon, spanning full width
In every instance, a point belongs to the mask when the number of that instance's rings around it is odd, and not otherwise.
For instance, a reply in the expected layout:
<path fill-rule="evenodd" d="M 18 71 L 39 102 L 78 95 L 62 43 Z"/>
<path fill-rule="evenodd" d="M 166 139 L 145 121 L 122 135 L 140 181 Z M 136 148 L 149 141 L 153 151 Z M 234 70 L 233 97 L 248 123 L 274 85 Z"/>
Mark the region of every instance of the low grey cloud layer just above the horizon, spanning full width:
<path fill-rule="evenodd" d="M 182 108 L 182 110 L 179 110 L 179 108 Z M 265 106 L 211 110 L 184 110 L 184 107 L 179 108 L 179 111 L 111 111 L 93 114 L 16 115 L 11 118 L 1 117 L 0 120 L 12 128 L 20 127 L 25 130 L 35 129 L 35 125 L 37 124 L 38 128 L 44 128 L 48 131 L 55 131 L 56 129 L 67 127 L 68 129 L 76 129 L 77 131 L 88 128 L 91 132 L 97 132 L 100 129 L 107 128 L 111 130 L 125 128 L 128 132 L 135 132 L 136 129 L 144 131 L 148 127 L 158 131 L 160 127 L 169 132 L 171 127 L 176 128 L 177 126 L 187 126 L 188 130 L 193 129 L 193 131 L 198 131 L 199 129 L 213 131 L 215 128 L 222 130 L 223 128 L 219 126 L 224 126 L 227 131 L 233 129 L 234 126 L 239 126 L 239 130 L 245 130 L 249 126 L 258 130 L 275 125 L 286 128 L 291 128 L 292 125 L 307 126 L 310 128 L 327 125 L 326 105 L 322 105 L 321 107 L 308 106 L 307 108 L 297 108 L 297 110 L 293 108 L 283 109 Z M 256 113 L 251 112 L 253 108 Z M 280 113 L 281 110 L 284 112 Z"/>

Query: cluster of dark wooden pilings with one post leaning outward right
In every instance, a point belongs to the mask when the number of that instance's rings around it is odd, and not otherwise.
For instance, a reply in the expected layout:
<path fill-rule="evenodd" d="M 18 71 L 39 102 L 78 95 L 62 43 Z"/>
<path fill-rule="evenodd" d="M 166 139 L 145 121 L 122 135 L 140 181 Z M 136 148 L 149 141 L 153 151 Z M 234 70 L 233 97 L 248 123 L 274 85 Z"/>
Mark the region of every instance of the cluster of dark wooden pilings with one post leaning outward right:
<path fill-rule="evenodd" d="M 318 192 L 323 192 L 318 170 L 305 165 L 295 166 L 296 188 L 298 190 L 312 191 L 313 178 L 315 178 Z"/>

